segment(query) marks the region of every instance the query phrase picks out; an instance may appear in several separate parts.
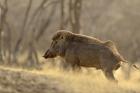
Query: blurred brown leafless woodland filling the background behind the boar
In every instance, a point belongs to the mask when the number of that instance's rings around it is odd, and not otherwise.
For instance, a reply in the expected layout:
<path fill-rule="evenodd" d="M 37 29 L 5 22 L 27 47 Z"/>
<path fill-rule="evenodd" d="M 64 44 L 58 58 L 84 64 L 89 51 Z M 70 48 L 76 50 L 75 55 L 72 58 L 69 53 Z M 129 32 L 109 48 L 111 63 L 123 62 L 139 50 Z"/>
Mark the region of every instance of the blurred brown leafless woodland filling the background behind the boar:
<path fill-rule="evenodd" d="M 60 29 L 115 42 L 140 61 L 140 0 L 0 0 L 0 64 L 38 67 Z"/>

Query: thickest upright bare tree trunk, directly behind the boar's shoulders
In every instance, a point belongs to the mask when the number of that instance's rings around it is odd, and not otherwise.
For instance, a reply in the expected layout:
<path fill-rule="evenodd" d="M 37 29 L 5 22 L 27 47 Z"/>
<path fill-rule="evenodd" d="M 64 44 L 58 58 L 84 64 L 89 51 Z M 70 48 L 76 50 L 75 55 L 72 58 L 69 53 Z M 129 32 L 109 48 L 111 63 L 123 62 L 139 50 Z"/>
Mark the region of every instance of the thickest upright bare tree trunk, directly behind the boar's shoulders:
<path fill-rule="evenodd" d="M 69 0 L 70 24 L 74 33 L 80 33 L 82 0 Z"/>

